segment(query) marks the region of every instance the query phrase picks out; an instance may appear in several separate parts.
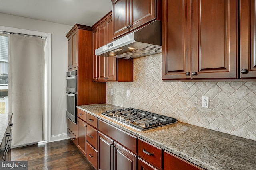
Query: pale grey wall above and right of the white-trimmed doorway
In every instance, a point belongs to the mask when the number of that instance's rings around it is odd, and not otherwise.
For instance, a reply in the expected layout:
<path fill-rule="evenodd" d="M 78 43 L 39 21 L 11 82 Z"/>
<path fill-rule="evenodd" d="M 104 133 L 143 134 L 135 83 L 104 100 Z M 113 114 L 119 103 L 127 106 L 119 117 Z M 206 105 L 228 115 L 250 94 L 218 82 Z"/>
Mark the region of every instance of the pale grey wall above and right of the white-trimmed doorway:
<path fill-rule="evenodd" d="M 0 13 L 0 26 L 52 34 L 52 103 L 51 136 L 62 138 L 66 125 L 66 71 L 68 41 L 66 34 L 73 26 L 34 20 Z"/>

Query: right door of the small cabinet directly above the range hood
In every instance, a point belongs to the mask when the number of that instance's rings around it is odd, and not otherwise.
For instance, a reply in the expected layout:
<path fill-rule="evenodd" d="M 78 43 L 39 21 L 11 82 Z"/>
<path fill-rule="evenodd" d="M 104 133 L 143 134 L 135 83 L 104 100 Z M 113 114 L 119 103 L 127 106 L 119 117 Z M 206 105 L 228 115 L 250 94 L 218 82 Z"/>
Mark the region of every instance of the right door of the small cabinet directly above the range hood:
<path fill-rule="evenodd" d="M 130 31 L 156 19 L 156 0 L 130 0 Z"/>

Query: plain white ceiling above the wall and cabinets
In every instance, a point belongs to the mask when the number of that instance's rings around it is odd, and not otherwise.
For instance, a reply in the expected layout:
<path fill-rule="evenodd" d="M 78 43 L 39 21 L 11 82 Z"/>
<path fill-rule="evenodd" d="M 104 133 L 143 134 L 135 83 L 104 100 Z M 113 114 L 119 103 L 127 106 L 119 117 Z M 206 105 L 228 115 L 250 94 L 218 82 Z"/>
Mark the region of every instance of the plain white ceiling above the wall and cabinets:
<path fill-rule="evenodd" d="M 92 26 L 111 10 L 111 0 L 0 0 L 0 13 L 70 26 Z"/>

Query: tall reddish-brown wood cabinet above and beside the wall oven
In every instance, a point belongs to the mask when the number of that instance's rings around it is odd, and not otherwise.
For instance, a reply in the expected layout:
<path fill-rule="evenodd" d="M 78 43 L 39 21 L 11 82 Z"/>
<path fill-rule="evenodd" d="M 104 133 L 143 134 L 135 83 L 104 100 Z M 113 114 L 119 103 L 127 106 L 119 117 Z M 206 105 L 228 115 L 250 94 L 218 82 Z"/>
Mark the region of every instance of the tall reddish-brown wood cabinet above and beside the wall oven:
<path fill-rule="evenodd" d="M 66 37 L 68 49 L 73 49 L 71 53 L 76 51 L 74 54 L 77 55 L 77 66 L 74 67 L 73 64 L 74 68 L 68 69 L 68 71 L 77 70 L 77 105 L 106 103 L 106 83 L 92 82 L 92 27 L 76 24 Z M 73 42 L 72 48 L 70 42 Z M 68 54 L 70 55 L 70 50 Z"/>

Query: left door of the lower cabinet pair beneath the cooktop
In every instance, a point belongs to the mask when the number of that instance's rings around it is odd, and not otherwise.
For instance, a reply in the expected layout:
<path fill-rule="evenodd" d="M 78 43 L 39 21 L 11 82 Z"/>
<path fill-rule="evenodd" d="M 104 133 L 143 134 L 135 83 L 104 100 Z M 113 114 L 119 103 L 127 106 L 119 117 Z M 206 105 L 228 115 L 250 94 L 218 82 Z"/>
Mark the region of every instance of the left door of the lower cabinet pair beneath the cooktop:
<path fill-rule="evenodd" d="M 113 140 L 98 132 L 98 168 L 113 169 Z"/>

